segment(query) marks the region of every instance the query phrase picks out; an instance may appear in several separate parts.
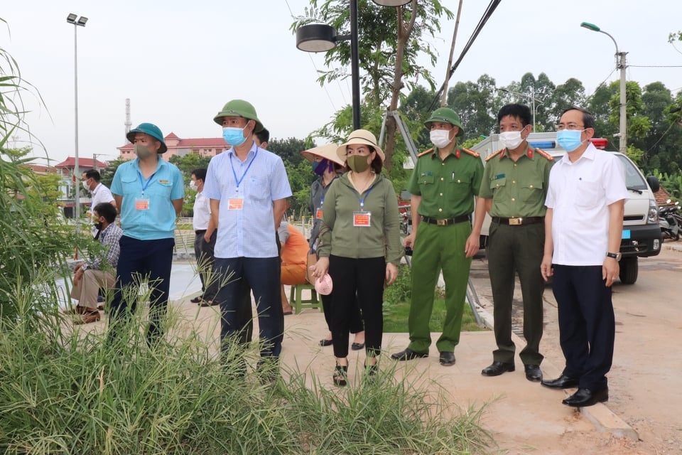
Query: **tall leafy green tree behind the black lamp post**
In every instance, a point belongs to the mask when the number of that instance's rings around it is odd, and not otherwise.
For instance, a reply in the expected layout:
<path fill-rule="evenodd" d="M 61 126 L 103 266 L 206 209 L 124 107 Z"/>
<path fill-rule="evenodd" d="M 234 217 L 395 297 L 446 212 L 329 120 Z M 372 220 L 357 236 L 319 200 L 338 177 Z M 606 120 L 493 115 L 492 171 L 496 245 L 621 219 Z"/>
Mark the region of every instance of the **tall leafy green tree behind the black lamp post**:
<path fill-rule="evenodd" d="M 296 18 L 291 30 L 296 31 L 308 23 L 322 22 L 333 26 L 339 34 L 348 33 L 349 5 L 349 0 L 311 0 L 311 8 L 305 10 L 305 16 Z M 433 38 L 440 31 L 440 17 L 443 14 L 448 18 L 453 17 L 452 12 L 438 0 L 412 0 L 410 8 L 384 8 L 369 0 L 358 1 L 359 65 L 364 72 L 360 75 L 360 85 L 365 96 L 364 104 L 379 108 L 379 111 L 386 108 L 392 111 L 397 109 L 401 90 L 405 85 L 413 88 L 418 81 L 425 81 L 433 89 L 431 73 L 419 65 L 417 60 L 419 55 L 426 54 L 431 64 L 435 65 L 437 55 L 428 36 Z M 337 43 L 335 48 L 325 54 L 325 63 L 328 66 L 349 68 L 350 43 Z M 318 81 L 324 84 L 349 76 L 350 72 L 347 70 L 326 70 L 321 73 Z M 352 122 L 348 122 L 341 131 L 347 133 L 351 125 Z M 366 124 L 362 125 L 369 129 Z M 387 122 L 384 146 L 387 173 L 391 173 L 393 167 L 395 128 L 392 120 Z"/>

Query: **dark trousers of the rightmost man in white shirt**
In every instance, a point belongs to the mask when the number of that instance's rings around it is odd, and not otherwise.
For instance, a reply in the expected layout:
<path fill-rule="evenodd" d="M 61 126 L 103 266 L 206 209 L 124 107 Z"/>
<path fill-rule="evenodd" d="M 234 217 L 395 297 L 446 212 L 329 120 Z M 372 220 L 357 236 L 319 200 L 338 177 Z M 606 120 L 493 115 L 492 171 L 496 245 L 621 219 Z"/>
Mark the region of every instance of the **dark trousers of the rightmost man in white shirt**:
<path fill-rule="evenodd" d="M 602 266 L 554 265 L 552 290 L 559 316 L 563 374 L 580 378 L 580 388 L 600 390 L 613 362 L 615 316 Z"/>

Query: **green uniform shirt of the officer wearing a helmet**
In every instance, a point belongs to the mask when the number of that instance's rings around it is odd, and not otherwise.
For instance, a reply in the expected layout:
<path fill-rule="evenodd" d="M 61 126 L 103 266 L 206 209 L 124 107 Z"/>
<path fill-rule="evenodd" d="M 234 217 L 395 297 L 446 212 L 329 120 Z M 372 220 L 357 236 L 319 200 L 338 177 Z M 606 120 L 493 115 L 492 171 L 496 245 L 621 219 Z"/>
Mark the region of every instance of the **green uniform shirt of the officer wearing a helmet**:
<path fill-rule="evenodd" d="M 420 154 L 407 188 L 421 196 L 419 215 L 446 219 L 472 213 L 483 176 L 477 155 L 459 148 L 445 160 L 438 156 L 438 149 Z"/>

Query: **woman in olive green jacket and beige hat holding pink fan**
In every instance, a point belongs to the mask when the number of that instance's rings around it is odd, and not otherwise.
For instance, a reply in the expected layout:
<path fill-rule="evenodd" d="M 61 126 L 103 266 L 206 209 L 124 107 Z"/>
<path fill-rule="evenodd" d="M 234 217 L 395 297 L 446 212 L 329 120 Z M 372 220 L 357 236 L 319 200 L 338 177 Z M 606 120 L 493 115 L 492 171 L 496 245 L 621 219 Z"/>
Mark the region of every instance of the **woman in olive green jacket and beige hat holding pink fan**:
<path fill-rule="evenodd" d="M 333 282 L 330 322 L 336 367 L 334 383 L 346 385 L 348 338 L 357 296 L 364 319 L 365 367 L 377 373 L 384 332 L 384 283 L 398 276 L 400 243 L 398 200 L 393 184 L 381 176 L 384 151 L 374 134 L 357 129 L 337 149 L 350 171 L 332 182 L 323 204 L 313 277 L 329 273 Z M 325 311 L 327 311 L 325 309 Z"/>

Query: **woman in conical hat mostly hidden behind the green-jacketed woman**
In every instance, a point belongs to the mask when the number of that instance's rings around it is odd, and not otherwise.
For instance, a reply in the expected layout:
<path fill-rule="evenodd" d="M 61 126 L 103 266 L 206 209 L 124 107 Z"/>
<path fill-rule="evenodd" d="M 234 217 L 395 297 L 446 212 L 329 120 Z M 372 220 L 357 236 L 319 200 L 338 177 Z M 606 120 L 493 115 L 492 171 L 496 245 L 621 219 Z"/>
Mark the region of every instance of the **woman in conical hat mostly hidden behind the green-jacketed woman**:
<path fill-rule="evenodd" d="M 318 234 L 320 233 L 320 225 L 322 223 L 322 204 L 325 200 L 327 190 L 332 184 L 332 181 L 341 176 L 346 163 L 345 156 L 338 156 L 336 149 L 338 149 L 337 144 L 326 144 L 301 152 L 303 158 L 307 159 L 313 164 L 313 172 L 318 176 L 318 178 L 310 186 L 310 213 L 313 214 L 314 220 L 313 230 L 310 231 L 310 250 L 315 250 L 315 247 L 318 243 Z M 331 312 L 328 310 L 328 308 L 332 298 L 328 295 L 323 295 L 321 298 L 325 314 L 325 321 L 327 322 L 329 333 L 325 338 L 320 340 L 320 346 L 331 346 Z M 352 311 L 350 333 L 355 334 L 355 339 L 350 346 L 351 349 L 360 350 L 364 348 L 364 328 L 362 326 L 362 315 L 360 314 L 360 309 L 357 304 L 355 309 Z"/>

